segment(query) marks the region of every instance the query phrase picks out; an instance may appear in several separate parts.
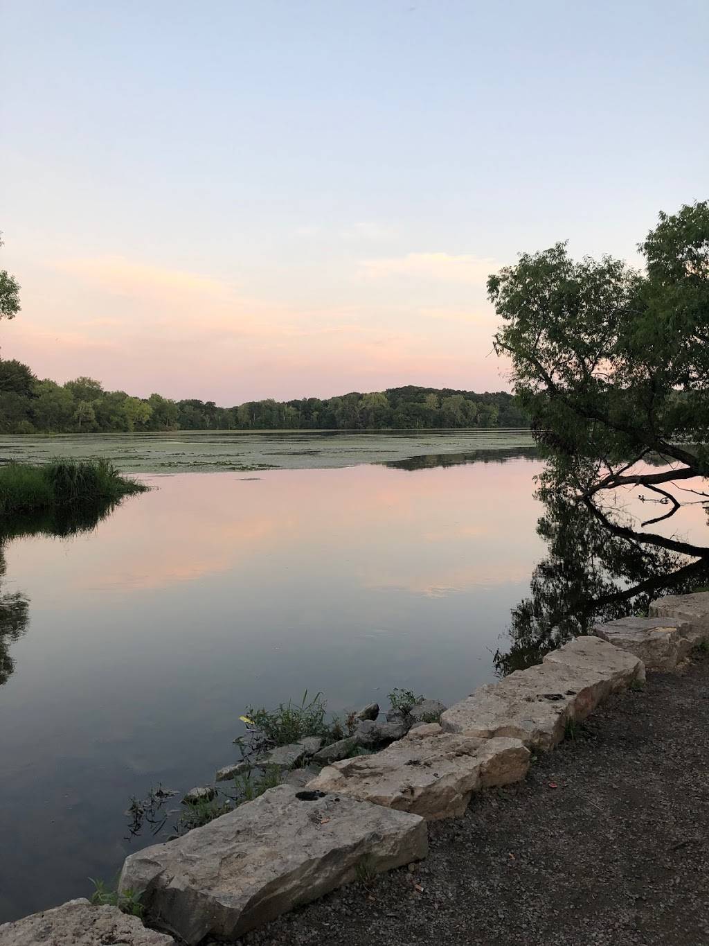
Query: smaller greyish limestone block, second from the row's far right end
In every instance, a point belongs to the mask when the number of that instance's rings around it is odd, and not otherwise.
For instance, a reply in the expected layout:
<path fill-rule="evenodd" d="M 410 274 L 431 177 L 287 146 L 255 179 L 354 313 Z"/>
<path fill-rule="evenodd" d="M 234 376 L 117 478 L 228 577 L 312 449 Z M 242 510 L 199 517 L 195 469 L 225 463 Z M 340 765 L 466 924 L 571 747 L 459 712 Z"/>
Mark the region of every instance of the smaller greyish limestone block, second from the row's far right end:
<path fill-rule="evenodd" d="M 594 624 L 594 634 L 639 657 L 646 670 L 674 670 L 691 649 L 681 622 L 668 618 L 620 618 Z"/>

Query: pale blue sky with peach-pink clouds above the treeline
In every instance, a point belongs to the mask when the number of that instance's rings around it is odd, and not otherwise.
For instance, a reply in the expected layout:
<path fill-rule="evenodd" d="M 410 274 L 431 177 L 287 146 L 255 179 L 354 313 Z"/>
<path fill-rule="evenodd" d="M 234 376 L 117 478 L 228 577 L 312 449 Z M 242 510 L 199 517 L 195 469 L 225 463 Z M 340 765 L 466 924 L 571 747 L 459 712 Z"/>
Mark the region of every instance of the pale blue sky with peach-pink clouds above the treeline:
<path fill-rule="evenodd" d="M 709 197 L 707 0 L 0 0 L 2 357 L 225 406 L 509 387 L 490 272 Z"/>

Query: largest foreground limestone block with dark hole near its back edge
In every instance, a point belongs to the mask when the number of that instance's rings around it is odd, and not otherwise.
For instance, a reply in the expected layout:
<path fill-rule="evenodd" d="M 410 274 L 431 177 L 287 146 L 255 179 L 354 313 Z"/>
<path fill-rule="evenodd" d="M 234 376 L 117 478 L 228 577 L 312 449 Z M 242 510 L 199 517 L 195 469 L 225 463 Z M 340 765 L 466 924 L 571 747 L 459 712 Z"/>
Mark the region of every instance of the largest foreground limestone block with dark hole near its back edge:
<path fill-rule="evenodd" d="M 236 939 L 355 880 L 425 857 L 423 818 L 290 785 L 127 858 L 120 890 L 193 946 Z"/>

